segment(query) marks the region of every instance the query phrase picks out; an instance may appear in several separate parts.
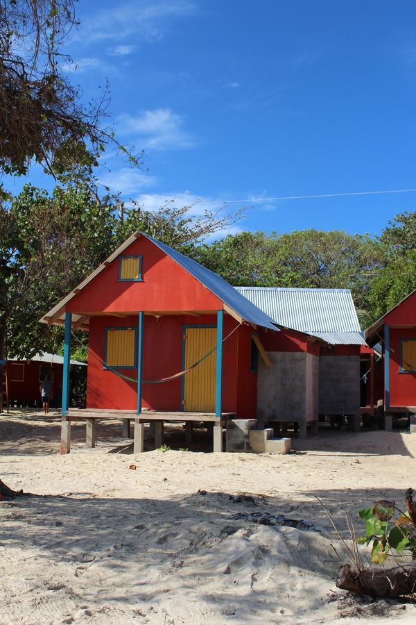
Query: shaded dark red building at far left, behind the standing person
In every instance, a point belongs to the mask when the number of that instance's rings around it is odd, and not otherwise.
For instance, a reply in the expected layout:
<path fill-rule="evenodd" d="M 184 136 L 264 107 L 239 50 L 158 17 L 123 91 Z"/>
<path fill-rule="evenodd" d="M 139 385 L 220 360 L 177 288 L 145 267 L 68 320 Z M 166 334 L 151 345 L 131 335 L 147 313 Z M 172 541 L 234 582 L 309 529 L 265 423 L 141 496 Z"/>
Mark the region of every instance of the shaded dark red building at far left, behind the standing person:
<path fill-rule="evenodd" d="M 51 408 L 62 404 L 62 368 L 64 359 L 55 353 L 38 353 L 28 360 L 6 360 L 3 367 L 3 403 L 9 406 L 39 407 L 40 383 L 48 375 L 53 383 Z M 71 360 L 71 365 L 85 363 Z"/>

